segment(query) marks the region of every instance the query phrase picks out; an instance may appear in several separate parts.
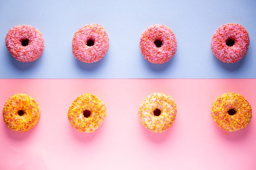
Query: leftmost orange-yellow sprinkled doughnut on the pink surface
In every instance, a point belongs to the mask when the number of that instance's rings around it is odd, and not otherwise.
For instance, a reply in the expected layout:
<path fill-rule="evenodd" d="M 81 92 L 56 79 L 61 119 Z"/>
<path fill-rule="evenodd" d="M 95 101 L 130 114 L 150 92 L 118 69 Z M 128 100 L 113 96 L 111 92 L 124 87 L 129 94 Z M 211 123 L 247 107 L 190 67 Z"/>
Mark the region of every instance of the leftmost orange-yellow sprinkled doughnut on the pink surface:
<path fill-rule="evenodd" d="M 11 130 L 28 131 L 36 126 L 39 118 L 39 105 L 31 96 L 18 93 L 4 104 L 3 120 Z"/>

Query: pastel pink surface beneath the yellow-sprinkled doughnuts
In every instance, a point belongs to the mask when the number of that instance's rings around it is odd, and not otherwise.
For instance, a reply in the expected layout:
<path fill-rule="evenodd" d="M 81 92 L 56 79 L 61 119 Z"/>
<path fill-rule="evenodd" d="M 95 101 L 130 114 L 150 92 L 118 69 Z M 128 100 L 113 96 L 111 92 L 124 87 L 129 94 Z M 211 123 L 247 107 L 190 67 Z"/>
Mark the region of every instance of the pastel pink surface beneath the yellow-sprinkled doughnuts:
<path fill-rule="evenodd" d="M 7 128 L 1 115 L 0 169 L 256 169 L 256 80 L 253 79 L 0 79 L 0 106 L 15 93 L 39 103 L 41 117 L 30 131 Z M 138 108 L 148 94 L 162 92 L 177 103 L 177 116 L 163 133 L 145 129 Z M 225 132 L 211 117 L 211 104 L 225 92 L 243 95 L 252 121 Z M 105 122 L 94 133 L 73 129 L 73 100 L 93 93 L 106 105 Z"/>

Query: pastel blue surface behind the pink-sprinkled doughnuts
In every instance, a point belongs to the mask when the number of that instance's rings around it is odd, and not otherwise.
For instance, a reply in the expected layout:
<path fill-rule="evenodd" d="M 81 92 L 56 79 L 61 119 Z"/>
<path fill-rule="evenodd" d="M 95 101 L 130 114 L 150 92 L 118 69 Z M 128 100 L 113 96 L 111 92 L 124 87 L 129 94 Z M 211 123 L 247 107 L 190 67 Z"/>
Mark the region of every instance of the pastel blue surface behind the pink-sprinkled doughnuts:
<path fill-rule="evenodd" d="M 256 0 L 1 0 L 0 78 L 256 78 Z M 226 23 L 243 25 L 250 36 L 246 56 L 225 64 L 211 52 L 213 33 Z M 99 62 L 85 64 L 72 53 L 78 28 L 96 23 L 109 36 Z M 15 25 L 36 27 L 45 40 L 34 62 L 16 61 L 5 46 Z M 142 32 L 164 24 L 177 38 L 177 53 L 151 64 L 139 49 Z"/>

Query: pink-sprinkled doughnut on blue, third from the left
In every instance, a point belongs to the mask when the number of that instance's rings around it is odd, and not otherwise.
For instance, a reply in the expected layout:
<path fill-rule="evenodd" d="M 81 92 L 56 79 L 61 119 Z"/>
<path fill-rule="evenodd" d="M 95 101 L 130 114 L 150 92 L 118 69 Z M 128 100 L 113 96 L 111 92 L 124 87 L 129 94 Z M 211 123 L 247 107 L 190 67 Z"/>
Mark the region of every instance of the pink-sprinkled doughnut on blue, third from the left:
<path fill-rule="evenodd" d="M 147 61 L 154 64 L 163 64 L 176 53 L 177 42 L 169 27 L 162 24 L 153 24 L 142 33 L 139 47 Z"/>

